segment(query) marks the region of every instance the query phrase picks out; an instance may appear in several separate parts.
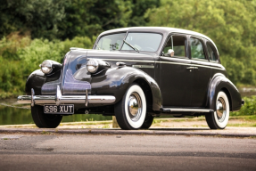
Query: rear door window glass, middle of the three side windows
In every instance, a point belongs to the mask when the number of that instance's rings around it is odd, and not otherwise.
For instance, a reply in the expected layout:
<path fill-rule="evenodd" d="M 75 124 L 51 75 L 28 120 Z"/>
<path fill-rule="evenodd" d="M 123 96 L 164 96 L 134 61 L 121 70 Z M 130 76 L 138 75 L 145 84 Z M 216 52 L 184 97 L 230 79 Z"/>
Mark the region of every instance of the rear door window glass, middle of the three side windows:
<path fill-rule="evenodd" d="M 205 55 L 203 53 L 202 42 L 198 38 L 190 38 L 190 48 L 191 48 L 191 58 L 205 60 Z"/>

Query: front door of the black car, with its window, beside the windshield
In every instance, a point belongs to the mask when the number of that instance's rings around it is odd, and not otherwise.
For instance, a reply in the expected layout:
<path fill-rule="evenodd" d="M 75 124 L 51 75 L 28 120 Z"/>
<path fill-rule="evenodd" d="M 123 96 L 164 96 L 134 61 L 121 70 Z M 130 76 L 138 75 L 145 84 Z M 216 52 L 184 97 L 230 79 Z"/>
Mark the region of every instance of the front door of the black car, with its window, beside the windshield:
<path fill-rule="evenodd" d="M 173 42 L 173 44 L 172 44 Z M 169 57 L 169 49 L 174 56 Z M 189 69 L 186 35 L 172 35 L 162 49 L 160 56 L 160 86 L 163 107 L 188 107 L 191 98 L 192 77 Z"/>

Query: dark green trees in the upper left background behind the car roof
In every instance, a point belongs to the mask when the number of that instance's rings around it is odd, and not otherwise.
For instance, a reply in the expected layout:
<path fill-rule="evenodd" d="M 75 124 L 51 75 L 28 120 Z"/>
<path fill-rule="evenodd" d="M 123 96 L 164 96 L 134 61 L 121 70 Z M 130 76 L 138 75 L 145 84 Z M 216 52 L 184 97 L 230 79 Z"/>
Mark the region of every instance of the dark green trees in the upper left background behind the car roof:
<path fill-rule="evenodd" d="M 93 37 L 103 30 L 145 25 L 159 0 L 3 0 L 0 38 L 19 31 L 32 38 Z"/>

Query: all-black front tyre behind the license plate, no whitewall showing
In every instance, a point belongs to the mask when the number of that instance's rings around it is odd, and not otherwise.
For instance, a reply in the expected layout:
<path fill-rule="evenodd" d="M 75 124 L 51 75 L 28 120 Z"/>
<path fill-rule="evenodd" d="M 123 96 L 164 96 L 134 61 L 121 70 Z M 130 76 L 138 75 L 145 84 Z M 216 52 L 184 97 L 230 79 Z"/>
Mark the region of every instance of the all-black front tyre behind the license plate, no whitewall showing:
<path fill-rule="evenodd" d="M 31 107 L 31 113 L 36 126 L 39 128 L 55 128 L 62 121 L 61 115 L 45 114 L 44 106 Z"/>

